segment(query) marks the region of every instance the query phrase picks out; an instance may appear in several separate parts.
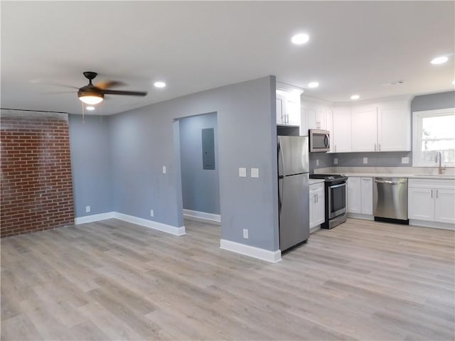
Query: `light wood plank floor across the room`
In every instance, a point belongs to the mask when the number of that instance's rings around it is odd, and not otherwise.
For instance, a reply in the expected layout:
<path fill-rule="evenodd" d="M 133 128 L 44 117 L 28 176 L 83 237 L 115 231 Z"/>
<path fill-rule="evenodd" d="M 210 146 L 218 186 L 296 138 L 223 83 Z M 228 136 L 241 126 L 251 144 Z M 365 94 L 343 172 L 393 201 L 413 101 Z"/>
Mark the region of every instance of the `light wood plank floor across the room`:
<path fill-rule="evenodd" d="M 454 340 L 454 232 L 348 220 L 269 264 L 119 220 L 1 240 L 1 340 Z"/>

